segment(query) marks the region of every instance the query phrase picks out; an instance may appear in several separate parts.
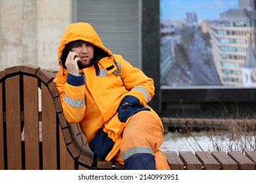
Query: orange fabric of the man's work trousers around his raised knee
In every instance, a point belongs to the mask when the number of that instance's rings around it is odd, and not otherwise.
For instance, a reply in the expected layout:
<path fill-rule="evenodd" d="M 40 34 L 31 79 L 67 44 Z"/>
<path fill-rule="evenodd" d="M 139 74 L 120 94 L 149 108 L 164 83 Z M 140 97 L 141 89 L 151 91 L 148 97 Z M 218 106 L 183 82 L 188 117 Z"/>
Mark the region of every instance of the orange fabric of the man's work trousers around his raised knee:
<path fill-rule="evenodd" d="M 147 112 L 134 114 L 125 126 L 119 152 L 114 157 L 124 165 L 122 154 L 134 147 L 150 147 L 154 152 L 156 169 L 169 169 L 167 158 L 159 149 L 163 142 L 163 129 L 158 120 Z"/>

